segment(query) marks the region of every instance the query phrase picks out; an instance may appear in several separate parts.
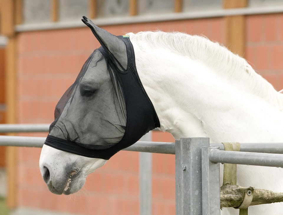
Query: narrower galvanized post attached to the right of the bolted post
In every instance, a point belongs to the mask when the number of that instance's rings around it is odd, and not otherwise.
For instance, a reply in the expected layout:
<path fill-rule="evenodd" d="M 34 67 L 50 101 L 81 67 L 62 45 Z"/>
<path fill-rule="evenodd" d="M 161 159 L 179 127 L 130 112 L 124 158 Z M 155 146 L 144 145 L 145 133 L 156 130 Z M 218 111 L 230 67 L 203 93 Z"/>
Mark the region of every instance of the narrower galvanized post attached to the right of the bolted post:
<path fill-rule="evenodd" d="M 220 164 L 209 160 L 211 149 L 219 147 L 202 147 L 202 196 L 203 215 L 220 215 Z"/>

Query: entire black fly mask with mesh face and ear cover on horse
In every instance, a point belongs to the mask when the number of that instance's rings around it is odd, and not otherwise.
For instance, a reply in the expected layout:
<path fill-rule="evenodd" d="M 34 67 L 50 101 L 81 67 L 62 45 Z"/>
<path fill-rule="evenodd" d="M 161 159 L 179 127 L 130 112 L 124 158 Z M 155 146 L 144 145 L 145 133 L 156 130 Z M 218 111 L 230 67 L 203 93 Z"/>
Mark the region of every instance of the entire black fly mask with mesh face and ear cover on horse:
<path fill-rule="evenodd" d="M 109 159 L 160 124 L 136 71 L 129 36 L 114 36 L 83 18 L 101 47 L 58 102 L 45 144 Z"/>

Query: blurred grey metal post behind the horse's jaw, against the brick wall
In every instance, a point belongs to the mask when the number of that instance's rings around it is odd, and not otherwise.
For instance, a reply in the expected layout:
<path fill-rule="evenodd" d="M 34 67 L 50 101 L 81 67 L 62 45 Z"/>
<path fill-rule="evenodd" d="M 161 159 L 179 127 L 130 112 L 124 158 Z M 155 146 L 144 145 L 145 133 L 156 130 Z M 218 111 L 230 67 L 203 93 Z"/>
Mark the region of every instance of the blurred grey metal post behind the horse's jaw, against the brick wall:
<path fill-rule="evenodd" d="M 140 139 L 151 141 L 152 134 L 149 131 Z M 139 213 L 140 215 L 151 215 L 152 212 L 152 154 L 148 152 L 139 153 Z"/>

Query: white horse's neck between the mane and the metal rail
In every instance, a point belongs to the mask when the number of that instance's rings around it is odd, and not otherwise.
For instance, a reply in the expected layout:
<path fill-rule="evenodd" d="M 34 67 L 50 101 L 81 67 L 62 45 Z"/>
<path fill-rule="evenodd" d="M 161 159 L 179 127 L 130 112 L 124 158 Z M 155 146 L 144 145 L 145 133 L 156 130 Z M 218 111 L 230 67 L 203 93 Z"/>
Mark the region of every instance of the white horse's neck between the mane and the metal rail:
<path fill-rule="evenodd" d="M 261 97 L 237 88 L 237 84 L 190 57 L 132 43 L 137 71 L 161 130 L 175 139 L 282 141 L 282 113 Z"/>

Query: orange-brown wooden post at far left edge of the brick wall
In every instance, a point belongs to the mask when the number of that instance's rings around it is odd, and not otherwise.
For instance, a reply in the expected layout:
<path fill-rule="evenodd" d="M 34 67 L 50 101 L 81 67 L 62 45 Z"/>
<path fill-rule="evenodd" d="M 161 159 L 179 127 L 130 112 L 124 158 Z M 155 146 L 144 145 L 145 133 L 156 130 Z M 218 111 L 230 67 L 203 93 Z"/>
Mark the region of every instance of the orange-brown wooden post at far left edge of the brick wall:
<path fill-rule="evenodd" d="M 5 50 L 5 100 L 6 123 L 17 123 L 17 38 L 14 31 L 16 19 L 16 0 L 1 0 L 0 33 L 7 36 L 8 43 Z M 19 4 L 19 2 L 17 3 Z M 6 148 L 7 171 L 7 205 L 17 206 L 17 148 Z"/>

